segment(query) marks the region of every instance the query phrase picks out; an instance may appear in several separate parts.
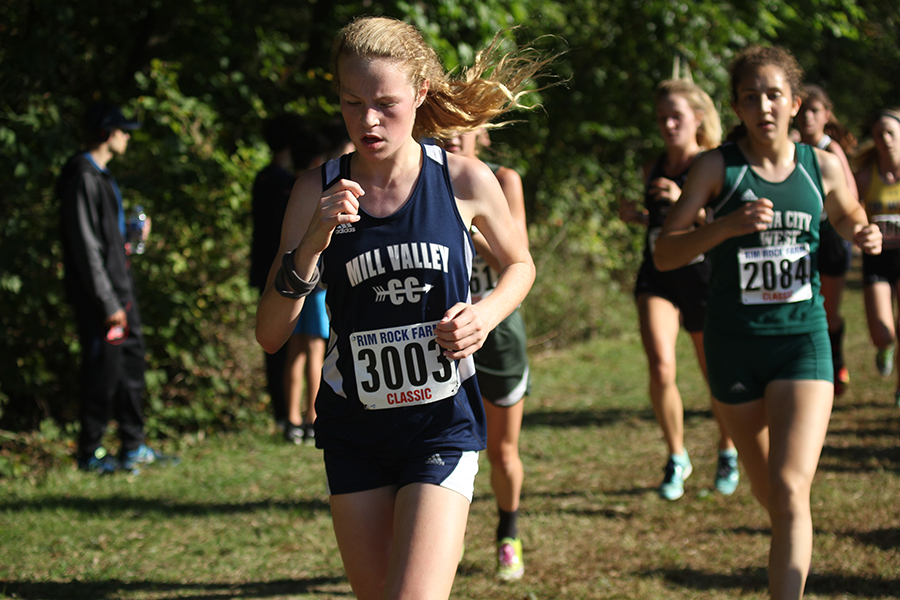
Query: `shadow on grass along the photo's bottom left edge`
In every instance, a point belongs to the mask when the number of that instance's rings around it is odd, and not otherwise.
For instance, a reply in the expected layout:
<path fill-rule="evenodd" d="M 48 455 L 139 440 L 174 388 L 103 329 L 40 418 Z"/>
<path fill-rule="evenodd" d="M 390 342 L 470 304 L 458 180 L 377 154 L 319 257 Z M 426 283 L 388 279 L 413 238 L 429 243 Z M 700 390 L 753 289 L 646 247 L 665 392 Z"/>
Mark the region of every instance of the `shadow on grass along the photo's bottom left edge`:
<path fill-rule="evenodd" d="M 172 583 L 168 581 L 0 581 L 3 597 L 42 600 L 103 600 L 121 598 L 123 593 L 145 593 L 154 600 L 217 600 L 224 598 L 272 598 L 297 594 L 352 597 L 349 591 L 335 591 L 344 577 L 280 579 L 250 583 Z M 328 589 L 320 589 L 328 586 Z"/>

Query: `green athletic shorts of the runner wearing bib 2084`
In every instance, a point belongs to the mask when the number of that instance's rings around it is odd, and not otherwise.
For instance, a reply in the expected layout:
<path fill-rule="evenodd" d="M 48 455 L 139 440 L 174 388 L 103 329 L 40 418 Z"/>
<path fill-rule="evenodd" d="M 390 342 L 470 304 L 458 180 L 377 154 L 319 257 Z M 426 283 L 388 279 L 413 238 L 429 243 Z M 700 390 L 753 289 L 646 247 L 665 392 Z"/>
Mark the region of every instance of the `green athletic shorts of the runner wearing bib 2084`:
<path fill-rule="evenodd" d="M 793 335 L 703 334 L 709 388 L 725 404 L 765 395 L 771 381 L 822 380 L 834 383 L 831 342 L 826 330 Z"/>

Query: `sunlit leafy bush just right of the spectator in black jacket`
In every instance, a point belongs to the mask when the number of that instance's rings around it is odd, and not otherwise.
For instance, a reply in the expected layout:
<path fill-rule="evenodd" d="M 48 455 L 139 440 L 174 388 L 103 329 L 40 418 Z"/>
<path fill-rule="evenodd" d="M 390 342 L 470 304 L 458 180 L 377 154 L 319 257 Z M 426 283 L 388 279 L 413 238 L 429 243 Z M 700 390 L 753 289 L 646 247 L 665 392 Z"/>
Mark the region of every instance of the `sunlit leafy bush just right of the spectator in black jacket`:
<path fill-rule="evenodd" d="M 256 293 L 247 286 L 249 190 L 267 162 L 259 145 L 221 140 L 222 118 L 179 88 L 180 65 L 154 60 L 138 77 L 136 132 L 123 175 L 128 203 L 151 216 L 145 254 L 133 257 L 149 350 L 151 432 L 234 426 L 259 410 L 254 378 L 238 358 Z M 174 166 L 174 168 L 173 168 Z"/>

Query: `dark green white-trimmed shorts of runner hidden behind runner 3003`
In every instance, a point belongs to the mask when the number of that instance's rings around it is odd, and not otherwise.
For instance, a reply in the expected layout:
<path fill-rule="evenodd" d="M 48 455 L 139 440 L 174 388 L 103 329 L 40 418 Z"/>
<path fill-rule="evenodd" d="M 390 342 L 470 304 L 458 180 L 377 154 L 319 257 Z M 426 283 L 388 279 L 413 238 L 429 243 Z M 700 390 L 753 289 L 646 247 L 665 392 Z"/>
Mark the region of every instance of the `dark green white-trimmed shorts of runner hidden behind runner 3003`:
<path fill-rule="evenodd" d="M 475 372 L 482 397 L 497 406 L 512 406 L 531 388 L 525 320 L 513 311 L 475 353 Z"/>

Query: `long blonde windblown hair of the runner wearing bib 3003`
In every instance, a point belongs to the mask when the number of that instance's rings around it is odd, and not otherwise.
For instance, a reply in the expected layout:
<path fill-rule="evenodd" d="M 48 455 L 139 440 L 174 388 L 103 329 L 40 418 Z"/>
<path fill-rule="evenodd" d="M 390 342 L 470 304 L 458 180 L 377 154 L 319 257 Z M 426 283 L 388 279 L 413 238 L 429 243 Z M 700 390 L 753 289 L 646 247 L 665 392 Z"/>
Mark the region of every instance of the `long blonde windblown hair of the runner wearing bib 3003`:
<path fill-rule="evenodd" d="M 361 17 L 346 25 L 334 41 L 331 68 L 340 92 L 338 62 L 345 57 L 386 58 L 403 65 L 418 90 L 427 80 L 428 94 L 416 113 L 413 137 L 450 137 L 480 127 L 498 127 L 496 117 L 527 108 L 522 96 L 535 76 L 555 57 L 543 57 L 531 47 L 502 54 L 498 33 L 477 54 L 462 77 L 452 78 L 437 53 L 414 26 L 387 17 Z"/>

